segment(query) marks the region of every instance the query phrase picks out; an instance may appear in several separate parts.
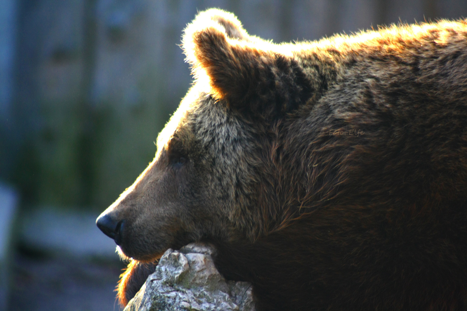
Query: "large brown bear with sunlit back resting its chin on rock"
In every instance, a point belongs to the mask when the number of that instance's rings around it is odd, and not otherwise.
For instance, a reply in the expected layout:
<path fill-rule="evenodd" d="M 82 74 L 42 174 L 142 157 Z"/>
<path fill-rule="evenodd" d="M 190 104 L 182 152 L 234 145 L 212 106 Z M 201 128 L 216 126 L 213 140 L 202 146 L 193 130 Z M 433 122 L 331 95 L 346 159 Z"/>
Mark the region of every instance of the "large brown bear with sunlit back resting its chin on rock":
<path fill-rule="evenodd" d="M 211 9 L 155 159 L 97 220 L 131 259 L 205 241 L 257 310 L 467 309 L 467 21 L 273 44 Z"/>

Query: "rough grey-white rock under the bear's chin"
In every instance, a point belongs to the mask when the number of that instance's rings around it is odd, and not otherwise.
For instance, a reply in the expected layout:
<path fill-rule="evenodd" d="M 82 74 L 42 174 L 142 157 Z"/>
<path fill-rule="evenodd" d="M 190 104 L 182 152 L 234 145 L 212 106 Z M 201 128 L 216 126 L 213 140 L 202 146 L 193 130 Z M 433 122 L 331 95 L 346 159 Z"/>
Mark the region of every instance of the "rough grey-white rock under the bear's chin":
<path fill-rule="evenodd" d="M 168 249 L 124 311 L 254 311 L 251 285 L 226 281 L 208 244 Z"/>

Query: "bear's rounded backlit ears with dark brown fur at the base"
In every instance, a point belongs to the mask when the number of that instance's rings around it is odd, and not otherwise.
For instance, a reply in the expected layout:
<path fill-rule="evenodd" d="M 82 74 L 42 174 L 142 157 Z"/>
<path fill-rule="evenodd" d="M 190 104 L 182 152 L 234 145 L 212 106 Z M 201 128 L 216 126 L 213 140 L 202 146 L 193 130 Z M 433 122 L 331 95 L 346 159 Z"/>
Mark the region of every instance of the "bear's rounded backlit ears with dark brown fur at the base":
<path fill-rule="evenodd" d="M 200 13 L 184 30 L 182 47 L 195 78 L 207 77 L 212 96 L 229 107 L 277 113 L 303 100 L 297 63 L 271 42 L 249 36 L 233 14 Z"/>

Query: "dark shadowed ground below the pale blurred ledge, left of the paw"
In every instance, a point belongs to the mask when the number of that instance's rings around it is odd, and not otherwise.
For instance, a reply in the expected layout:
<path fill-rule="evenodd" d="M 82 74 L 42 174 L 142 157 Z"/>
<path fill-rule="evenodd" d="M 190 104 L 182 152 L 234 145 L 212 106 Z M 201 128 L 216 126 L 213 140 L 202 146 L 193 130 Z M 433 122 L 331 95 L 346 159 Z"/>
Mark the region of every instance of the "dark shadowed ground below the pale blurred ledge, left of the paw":
<path fill-rule="evenodd" d="M 115 285 L 123 263 L 19 249 L 14 255 L 10 311 L 120 311 Z"/>

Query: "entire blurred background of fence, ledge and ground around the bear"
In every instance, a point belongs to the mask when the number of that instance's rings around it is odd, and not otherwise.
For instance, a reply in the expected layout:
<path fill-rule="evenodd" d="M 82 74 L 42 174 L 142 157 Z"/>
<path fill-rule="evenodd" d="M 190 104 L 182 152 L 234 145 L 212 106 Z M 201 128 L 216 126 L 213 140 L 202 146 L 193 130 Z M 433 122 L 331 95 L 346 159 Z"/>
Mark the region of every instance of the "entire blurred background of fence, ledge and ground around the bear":
<path fill-rule="evenodd" d="M 124 264 L 95 219 L 153 159 L 191 83 L 180 35 L 209 7 L 274 42 L 467 16 L 466 0 L 0 0 L 0 311 L 120 310 Z"/>

